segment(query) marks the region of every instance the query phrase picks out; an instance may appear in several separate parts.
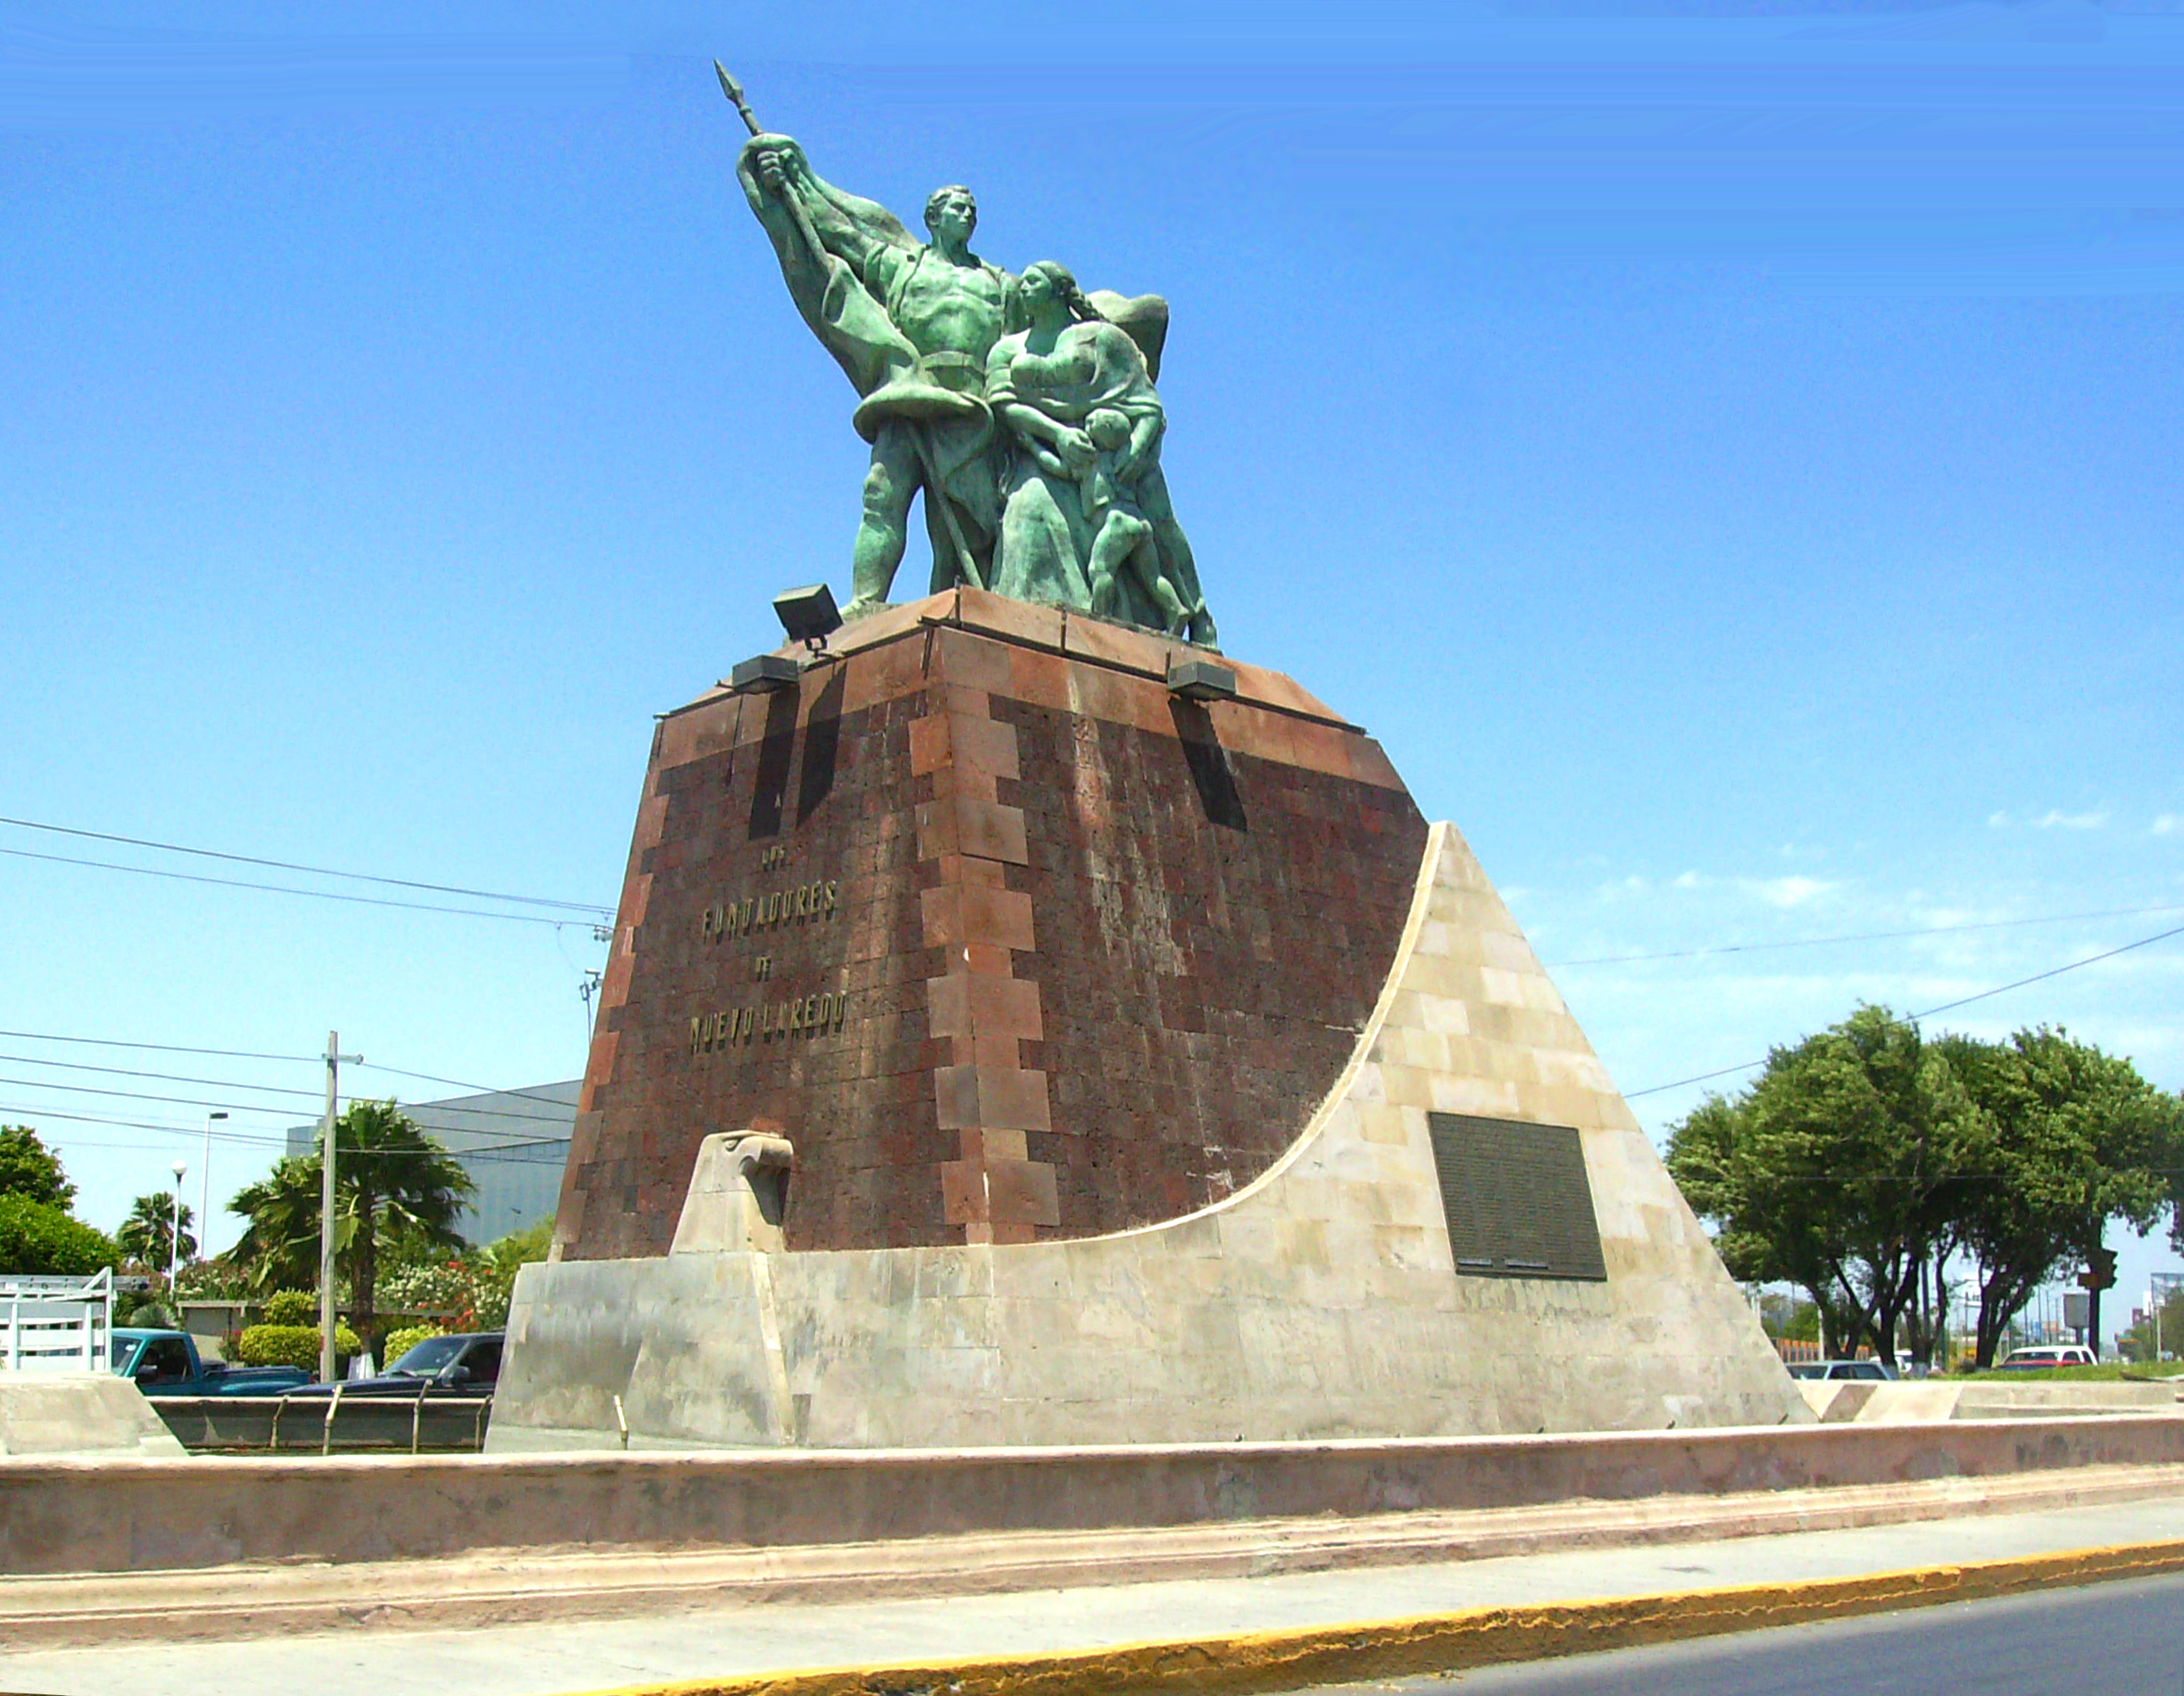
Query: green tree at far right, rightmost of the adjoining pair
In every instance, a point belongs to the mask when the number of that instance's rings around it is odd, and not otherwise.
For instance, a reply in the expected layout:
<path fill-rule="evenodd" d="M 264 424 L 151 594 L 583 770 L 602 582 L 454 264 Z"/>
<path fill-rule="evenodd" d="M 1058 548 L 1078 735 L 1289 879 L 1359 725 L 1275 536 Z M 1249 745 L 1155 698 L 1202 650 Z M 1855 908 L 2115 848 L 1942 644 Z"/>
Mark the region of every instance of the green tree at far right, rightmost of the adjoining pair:
<path fill-rule="evenodd" d="M 2171 1205 L 2184 1113 L 2127 1059 L 2060 1028 L 1937 1048 L 1977 1107 L 1961 1242 L 1979 1262 L 1977 1362 L 1992 1366 L 2009 1321 L 2042 1283 L 2088 1264 L 2110 1222 L 2145 1231 Z"/>

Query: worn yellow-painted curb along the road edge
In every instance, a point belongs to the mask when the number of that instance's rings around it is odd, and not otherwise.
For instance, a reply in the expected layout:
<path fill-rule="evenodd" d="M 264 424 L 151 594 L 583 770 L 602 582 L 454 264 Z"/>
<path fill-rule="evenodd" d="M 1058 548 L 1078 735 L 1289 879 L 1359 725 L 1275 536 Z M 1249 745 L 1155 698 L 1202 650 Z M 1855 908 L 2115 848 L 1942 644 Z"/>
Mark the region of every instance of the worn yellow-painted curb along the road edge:
<path fill-rule="evenodd" d="M 1249 1696 L 1356 1679 L 1463 1672 L 1605 1648 L 1673 1644 L 1732 1631 L 1848 1620 L 1859 1613 L 1974 1602 L 2016 1591 L 2184 1572 L 2184 1541 L 2027 1554 L 1961 1567 L 1913 1567 L 1795 1585 L 1734 1585 L 1671 1596 L 1468 1609 L 1306 1631 L 1254 1631 L 1173 1644 L 1118 1644 L 976 1661 L 751 1672 L 734 1679 L 622 1685 L 590 1696 Z"/>

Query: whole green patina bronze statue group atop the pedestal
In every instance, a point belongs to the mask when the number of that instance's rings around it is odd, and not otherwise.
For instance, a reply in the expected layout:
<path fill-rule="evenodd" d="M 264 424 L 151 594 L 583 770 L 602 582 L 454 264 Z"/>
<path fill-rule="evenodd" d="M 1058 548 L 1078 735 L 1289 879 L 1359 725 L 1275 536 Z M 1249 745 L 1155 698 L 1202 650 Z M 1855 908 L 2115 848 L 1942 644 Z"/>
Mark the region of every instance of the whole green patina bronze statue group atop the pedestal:
<path fill-rule="evenodd" d="M 933 190 L 919 242 L 751 118 L 736 177 L 797 312 L 856 386 L 871 443 L 843 618 L 887 605 L 924 491 L 933 589 L 978 589 L 1216 644 L 1160 471 L 1158 295 L 1085 295 L 1053 260 L 1011 277 L 970 249 L 978 203 Z"/>

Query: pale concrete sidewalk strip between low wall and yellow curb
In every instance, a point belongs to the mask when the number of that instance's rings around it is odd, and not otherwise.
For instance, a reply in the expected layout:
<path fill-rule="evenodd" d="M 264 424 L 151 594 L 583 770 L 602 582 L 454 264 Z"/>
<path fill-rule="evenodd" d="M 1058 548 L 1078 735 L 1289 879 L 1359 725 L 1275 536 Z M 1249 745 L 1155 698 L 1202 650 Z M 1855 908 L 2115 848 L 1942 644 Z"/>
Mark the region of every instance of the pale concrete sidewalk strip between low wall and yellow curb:
<path fill-rule="evenodd" d="M 1662 1598 L 1747 1585 L 1826 1585 L 1874 1574 L 1926 1569 L 1889 1587 L 1896 1600 L 1863 1602 L 1848 1589 L 1843 1611 L 1907 1600 L 1950 1600 L 1933 1569 L 2167 1543 L 2149 1556 L 2112 1561 L 2114 1569 L 2184 1565 L 2184 1495 L 2129 1506 L 2055 1513 L 1977 1515 L 1861 1530 L 1819 1530 L 1651 1548 L 1572 1550 L 1516 1558 L 1372 1567 L 1271 1578 L 1210 1578 L 1109 1585 L 1009 1596 L 959 1596 L 891 1602 L 712 1607 L 695 1613 L 568 1624 L 515 1624 L 478 1631 L 411 1631 L 400 1624 L 310 1633 L 223 1646 L 85 1648 L 0 1652 L 0 1689 L 31 1696 L 234 1696 L 238 1689 L 369 1689 L 446 1696 L 563 1696 L 679 1681 L 732 1681 L 802 1668 L 946 1668 L 987 1657 L 1042 1657 L 1120 1644 L 1208 1644 L 1201 1655 L 1155 1657 L 1188 1663 L 1199 1689 L 1223 1687 L 1219 1665 L 1241 1633 L 1339 1628 L 1365 1622 L 1455 1615 L 1472 1609 L 1548 1609 L 1597 1598 Z M 2005 1587 L 2038 1587 L 2055 1574 L 2005 1576 Z M 1990 1591 L 1992 1593 L 1992 1591 Z M 1721 1598 L 1738 1624 L 1815 1617 Z M 1627 1611 L 1625 1611 L 1627 1613 Z M 1712 1609 L 1719 1620 L 1721 1607 Z M 1655 1609 L 1653 1615 L 1660 1615 Z M 1505 1622 L 1485 1622 L 1487 1631 Z M 1538 1624 L 1538 1622 L 1533 1622 Z M 1721 1628 L 1710 1626 L 1710 1628 Z M 1662 1635 L 1690 1635 L 1662 1633 Z M 1564 1641 L 1583 1639 L 1566 1622 Z M 1363 1637 L 1358 1637 L 1363 1641 Z M 1618 1641 L 1634 1641 L 1625 1635 Z M 1321 1672 L 1319 1676 L 1330 1676 Z M 1339 1674 L 1332 1674 L 1339 1676 Z M 856 1689 L 863 1681 L 832 1681 Z M 874 1687 L 915 1689 L 922 1681 Z M 1053 1683 L 1059 1689 L 1068 1681 Z M 1046 1681 L 1018 1687 L 1048 1687 Z M 828 1687 L 826 1683 L 810 1685 Z M 998 1679 L 963 1681 L 965 1696 L 998 1689 Z M 1099 1685 L 1079 1685 L 1099 1687 Z M 1120 1689 L 1120 1685 L 1105 1685 Z M 1227 1687 L 1243 1687 L 1230 1683 Z M 1273 1689 L 1273 1683 L 1258 1683 Z"/>

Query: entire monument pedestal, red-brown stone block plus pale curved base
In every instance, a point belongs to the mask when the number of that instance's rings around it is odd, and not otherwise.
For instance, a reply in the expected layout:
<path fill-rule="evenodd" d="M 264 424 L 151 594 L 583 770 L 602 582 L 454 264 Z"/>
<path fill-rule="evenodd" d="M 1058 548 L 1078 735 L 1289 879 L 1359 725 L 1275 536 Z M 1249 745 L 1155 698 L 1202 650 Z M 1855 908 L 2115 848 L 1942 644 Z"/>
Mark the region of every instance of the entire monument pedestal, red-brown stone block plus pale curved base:
<path fill-rule="evenodd" d="M 1179 657 L 959 592 L 662 720 L 489 1447 L 1813 1419 L 1457 832 Z"/>

